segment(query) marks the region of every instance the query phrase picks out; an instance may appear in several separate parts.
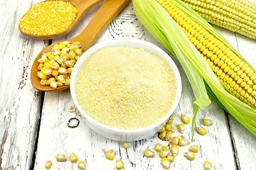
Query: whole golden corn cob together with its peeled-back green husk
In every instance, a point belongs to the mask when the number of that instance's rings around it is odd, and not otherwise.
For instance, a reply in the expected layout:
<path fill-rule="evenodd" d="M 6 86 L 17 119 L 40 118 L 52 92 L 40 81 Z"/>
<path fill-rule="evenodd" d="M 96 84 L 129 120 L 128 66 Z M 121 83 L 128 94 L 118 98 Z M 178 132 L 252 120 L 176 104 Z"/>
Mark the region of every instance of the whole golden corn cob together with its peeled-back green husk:
<path fill-rule="evenodd" d="M 256 71 L 201 16 L 181 0 L 133 0 L 139 21 L 179 62 L 198 108 L 208 94 L 256 136 Z M 208 93 L 208 94 L 207 94 Z"/>

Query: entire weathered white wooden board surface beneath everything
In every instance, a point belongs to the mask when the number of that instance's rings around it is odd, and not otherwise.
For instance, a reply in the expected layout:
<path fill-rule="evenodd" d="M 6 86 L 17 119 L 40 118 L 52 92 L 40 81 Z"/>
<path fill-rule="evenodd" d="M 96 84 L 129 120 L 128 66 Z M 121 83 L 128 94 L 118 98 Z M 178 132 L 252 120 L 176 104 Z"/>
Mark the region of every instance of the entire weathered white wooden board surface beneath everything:
<path fill-rule="evenodd" d="M 33 89 L 29 79 L 31 64 L 38 52 L 48 45 L 48 41 L 33 40 L 21 35 L 18 32 L 18 21 L 36 2 L 38 0 L 0 1 L 0 169 L 41 170 L 48 160 L 53 162 L 51 169 L 78 169 L 69 160 L 55 161 L 57 154 L 68 156 L 70 152 L 85 161 L 87 169 L 114 169 L 115 160 L 119 158 L 124 162 L 124 169 L 161 169 L 159 157 L 144 157 L 144 150 L 154 149 L 156 143 L 168 145 L 168 142 L 159 140 L 157 135 L 131 142 L 131 147 L 124 149 L 122 142 L 102 137 L 87 126 L 76 110 L 69 90 L 40 93 Z M 92 8 L 68 35 L 53 42 L 78 35 L 101 4 Z M 255 40 L 215 28 L 256 68 Z M 161 47 L 137 20 L 132 2 L 105 28 L 94 44 L 112 38 L 137 38 Z M 178 62 L 176 64 L 181 72 L 183 93 L 174 115 L 175 128 L 181 122 L 181 113 L 193 117 L 192 103 L 195 100 L 186 75 Z M 68 128 L 72 118 L 75 120 L 70 125 L 79 120 L 77 128 Z M 191 145 L 200 146 L 196 159 L 188 161 L 183 157 L 188 147 L 180 147 L 180 153 L 171 163 L 171 169 L 203 169 L 206 160 L 213 163 L 213 169 L 254 169 L 256 137 L 214 101 L 204 111 L 198 112 L 196 125 L 201 125 L 203 118 L 213 120 L 213 125 L 207 127 L 205 136 L 195 135 Z M 175 132 L 174 136 L 181 134 Z M 187 140 L 191 139 L 191 123 L 186 125 L 183 136 Z M 109 149 L 117 150 L 114 161 L 105 158 L 103 150 Z"/>

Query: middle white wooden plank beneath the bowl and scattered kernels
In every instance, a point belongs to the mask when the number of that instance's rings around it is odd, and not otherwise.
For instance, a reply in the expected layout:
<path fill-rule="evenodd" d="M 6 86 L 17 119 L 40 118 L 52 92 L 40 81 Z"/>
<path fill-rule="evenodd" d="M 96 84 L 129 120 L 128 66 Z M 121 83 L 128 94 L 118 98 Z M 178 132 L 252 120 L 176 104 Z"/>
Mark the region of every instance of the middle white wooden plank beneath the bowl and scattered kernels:
<path fill-rule="evenodd" d="M 92 14 L 95 13 L 95 10 L 96 8 L 93 8 L 85 16 L 85 21 L 82 21 L 66 38 L 80 33 L 81 29 L 87 25 L 88 18 L 91 18 Z M 124 8 L 124 11 L 110 23 L 110 26 L 100 34 L 95 43 L 122 37 L 144 39 L 159 45 L 159 42 L 156 42 L 134 16 L 132 3 Z M 54 42 L 64 39 L 60 38 Z M 181 67 L 179 68 L 181 69 Z M 181 113 L 186 113 L 191 118 L 193 115 L 192 102 L 195 98 L 182 69 L 181 74 L 183 94 L 181 102 L 176 109 L 174 125 L 181 121 Z M 75 107 L 69 90 L 46 93 L 34 169 L 43 169 L 48 159 L 53 162 L 52 169 L 78 169 L 76 164 L 71 164 L 69 160 L 67 162 L 55 161 L 57 154 L 69 155 L 70 152 L 77 154 L 80 160 L 85 160 L 87 169 L 114 169 L 115 160 L 118 158 L 122 158 L 124 169 L 161 169 L 161 159 L 159 157 L 153 159 L 144 157 L 144 150 L 146 148 L 154 149 L 154 145 L 158 142 L 163 143 L 163 145 L 168 145 L 168 142 L 161 141 L 157 135 L 154 135 L 145 140 L 132 142 L 131 147 L 124 149 L 122 142 L 109 140 L 91 130 L 77 111 L 74 113 L 69 111 L 71 106 Z M 80 120 L 78 128 L 67 127 L 70 118 L 78 118 Z M 227 120 L 223 110 L 213 102 L 205 111 L 199 111 L 198 125 L 201 125 L 203 118 L 210 118 L 213 120 L 214 125 L 208 127 L 206 136 L 195 135 L 193 143 L 200 145 L 200 151 L 196 154 L 196 159 L 192 162 L 188 161 L 183 157 L 183 153 L 188 150 L 188 147 L 181 147 L 181 152 L 174 163 L 171 164 L 171 168 L 203 169 L 203 162 L 208 160 L 213 162 L 214 169 L 235 169 Z M 191 139 L 191 124 L 186 125 L 184 136 L 186 139 Z M 117 155 L 114 161 L 107 160 L 102 149 L 106 151 L 116 149 Z"/>

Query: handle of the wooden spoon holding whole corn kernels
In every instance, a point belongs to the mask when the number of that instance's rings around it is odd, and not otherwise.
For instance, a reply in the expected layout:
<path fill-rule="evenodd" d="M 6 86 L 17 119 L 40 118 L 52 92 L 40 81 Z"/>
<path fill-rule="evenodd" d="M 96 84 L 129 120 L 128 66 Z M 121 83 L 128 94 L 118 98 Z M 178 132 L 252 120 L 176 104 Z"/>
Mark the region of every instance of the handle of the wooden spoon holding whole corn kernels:
<path fill-rule="evenodd" d="M 130 0 L 107 0 L 95 13 L 90 23 L 85 30 L 82 31 L 75 38 L 70 39 L 70 42 L 80 41 L 84 50 L 87 50 L 92 46 L 92 42 L 97 35 L 122 11 L 124 6 L 129 3 Z"/>

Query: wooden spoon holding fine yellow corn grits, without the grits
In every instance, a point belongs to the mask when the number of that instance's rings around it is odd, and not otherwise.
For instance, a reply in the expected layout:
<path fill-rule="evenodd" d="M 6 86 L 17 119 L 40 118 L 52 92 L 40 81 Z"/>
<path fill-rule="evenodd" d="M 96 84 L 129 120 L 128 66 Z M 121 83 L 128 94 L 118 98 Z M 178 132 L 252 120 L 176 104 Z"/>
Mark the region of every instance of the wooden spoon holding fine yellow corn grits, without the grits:
<path fill-rule="evenodd" d="M 51 1 L 51 0 L 46 0 L 46 1 Z M 23 32 L 23 30 L 21 30 L 20 25 L 18 24 L 18 30 L 20 30 L 21 33 L 23 33 L 24 35 L 31 38 L 36 38 L 36 39 L 50 40 L 50 39 L 60 38 L 66 33 L 70 32 L 70 30 L 72 30 L 77 25 L 77 23 L 80 21 L 82 16 L 84 16 L 85 13 L 87 13 L 87 11 L 90 10 L 90 8 L 92 8 L 96 4 L 99 4 L 100 1 L 103 1 L 103 0 L 61 0 L 61 1 L 69 2 L 70 4 L 75 6 L 75 8 L 78 9 L 78 16 L 75 18 L 75 21 L 71 23 L 71 25 L 67 29 L 63 30 L 62 32 L 54 33 L 51 35 L 34 35 L 31 33 Z"/>

